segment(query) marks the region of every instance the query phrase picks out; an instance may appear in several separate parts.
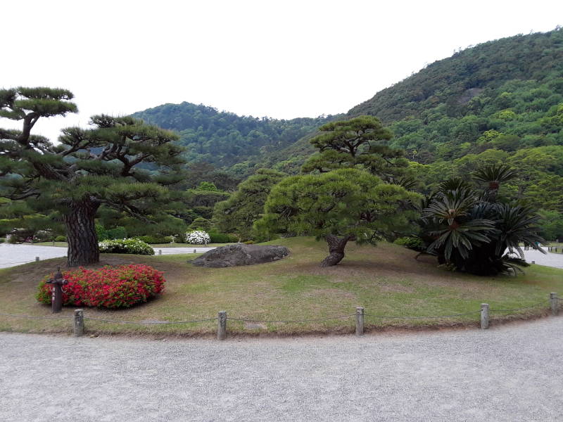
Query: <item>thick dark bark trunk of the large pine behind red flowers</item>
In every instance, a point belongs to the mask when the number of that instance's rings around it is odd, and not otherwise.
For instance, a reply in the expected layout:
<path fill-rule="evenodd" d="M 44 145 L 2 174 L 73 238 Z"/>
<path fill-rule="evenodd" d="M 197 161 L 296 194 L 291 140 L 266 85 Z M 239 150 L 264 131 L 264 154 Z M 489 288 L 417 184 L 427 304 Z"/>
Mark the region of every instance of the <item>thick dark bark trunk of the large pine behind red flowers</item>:
<path fill-rule="evenodd" d="M 99 205 L 91 200 L 70 204 L 70 212 L 63 217 L 68 241 L 68 267 L 96 264 L 100 260 L 98 236 L 94 217 Z"/>

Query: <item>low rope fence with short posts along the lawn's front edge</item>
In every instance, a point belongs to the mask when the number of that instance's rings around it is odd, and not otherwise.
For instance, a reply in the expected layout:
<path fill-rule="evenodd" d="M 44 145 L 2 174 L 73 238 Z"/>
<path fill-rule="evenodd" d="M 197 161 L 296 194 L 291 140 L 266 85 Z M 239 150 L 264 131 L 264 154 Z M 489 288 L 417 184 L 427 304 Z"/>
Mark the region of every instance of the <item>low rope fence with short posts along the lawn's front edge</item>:
<path fill-rule="evenodd" d="M 170 325 L 170 324 L 195 324 L 198 322 L 205 321 L 217 321 L 217 339 L 224 340 L 227 338 L 227 321 L 241 321 L 241 322 L 255 322 L 255 323 L 266 323 L 266 324 L 292 324 L 292 323 L 303 323 L 303 322 L 315 322 L 315 321 L 329 321 L 336 319 L 346 319 L 355 316 L 355 333 L 356 335 L 363 335 L 364 333 L 364 318 L 365 316 L 371 316 L 376 319 L 440 319 L 440 318 L 453 318 L 456 316 L 466 316 L 466 315 L 481 315 L 481 328 L 486 329 L 489 326 L 490 314 L 491 312 L 517 312 L 524 309 L 532 309 L 544 305 L 545 307 L 550 307 L 552 314 L 557 315 L 559 309 L 563 309 L 563 298 L 558 298 L 557 293 L 550 293 L 549 300 L 542 300 L 536 302 L 533 305 L 528 305 L 524 307 L 517 307 L 513 309 L 490 309 L 487 303 L 481 304 L 481 309 L 472 312 L 462 312 L 460 314 L 448 314 L 448 315 L 426 315 L 426 316 L 395 316 L 395 315 L 379 315 L 379 314 L 366 314 L 365 308 L 356 307 L 355 314 L 337 315 L 337 316 L 326 316 L 322 318 L 312 318 L 312 319 L 289 319 L 289 320 L 269 320 L 269 319 L 246 319 L 246 318 L 234 318 L 227 316 L 227 312 L 218 312 L 217 316 L 213 318 L 202 318 L 202 319 L 191 319 L 187 321 L 122 321 L 119 319 L 105 319 L 97 318 L 95 316 L 84 315 L 83 309 L 75 309 L 72 316 L 31 316 L 23 314 L 6 314 L 0 312 L 2 316 L 11 316 L 14 318 L 28 318 L 28 319 L 72 319 L 72 325 L 74 328 L 75 336 L 80 336 L 84 334 L 84 320 L 88 319 L 91 321 L 108 322 L 114 324 L 141 324 L 141 325 Z"/>

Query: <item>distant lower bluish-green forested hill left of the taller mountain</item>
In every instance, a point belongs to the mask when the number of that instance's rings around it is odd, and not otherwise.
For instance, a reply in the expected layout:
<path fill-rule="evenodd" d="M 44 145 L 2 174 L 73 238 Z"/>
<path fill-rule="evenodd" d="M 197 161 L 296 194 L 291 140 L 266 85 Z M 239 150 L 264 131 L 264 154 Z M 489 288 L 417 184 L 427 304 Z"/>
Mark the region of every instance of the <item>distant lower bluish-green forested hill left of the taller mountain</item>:
<path fill-rule="evenodd" d="M 208 162 L 215 167 L 267 160 L 272 153 L 315 131 L 330 118 L 320 116 L 276 120 L 239 116 L 186 102 L 164 104 L 139 111 L 133 116 L 178 131 L 179 143 L 187 147 L 188 162 Z"/>

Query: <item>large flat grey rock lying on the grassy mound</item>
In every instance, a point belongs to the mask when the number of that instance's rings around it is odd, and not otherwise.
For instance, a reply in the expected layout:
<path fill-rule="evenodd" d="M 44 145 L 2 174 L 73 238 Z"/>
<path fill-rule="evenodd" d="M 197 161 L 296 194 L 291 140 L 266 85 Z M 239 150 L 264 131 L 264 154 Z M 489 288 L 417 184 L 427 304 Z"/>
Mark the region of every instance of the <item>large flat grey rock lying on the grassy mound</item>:
<path fill-rule="evenodd" d="M 209 268 L 236 267 L 277 261 L 287 255 L 289 255 L 289 249 L 285 246 L 237 243 L 209 250 L 191 263 L 198 267 Z"/>

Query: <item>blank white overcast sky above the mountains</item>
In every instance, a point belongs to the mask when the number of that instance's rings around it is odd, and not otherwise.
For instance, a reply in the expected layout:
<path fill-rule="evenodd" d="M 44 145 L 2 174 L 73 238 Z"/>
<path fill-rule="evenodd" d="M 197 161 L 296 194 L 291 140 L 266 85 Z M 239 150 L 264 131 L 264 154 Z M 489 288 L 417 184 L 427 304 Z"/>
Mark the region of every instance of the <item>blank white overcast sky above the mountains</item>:
<path fill-rule="evenodd" d="M 345 113 L 457 49 L 563 25 L 563 1 L 2 1 L 0 88 L 61 87 L 89 116 L 164 103 Z M 14 126 L 0 119 L 0 127 Z"/>

